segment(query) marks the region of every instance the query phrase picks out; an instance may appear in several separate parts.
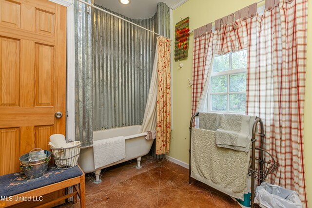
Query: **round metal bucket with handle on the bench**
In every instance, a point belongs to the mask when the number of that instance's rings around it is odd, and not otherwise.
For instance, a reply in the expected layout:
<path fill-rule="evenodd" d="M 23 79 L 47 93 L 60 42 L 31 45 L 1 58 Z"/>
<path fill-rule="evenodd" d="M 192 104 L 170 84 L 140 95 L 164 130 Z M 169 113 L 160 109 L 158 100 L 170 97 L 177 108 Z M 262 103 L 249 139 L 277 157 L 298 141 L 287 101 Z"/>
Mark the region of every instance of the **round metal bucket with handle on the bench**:
<path fill-rule="evenodd" d="M 42 151 L 41 149 L 39 150 Z M 28 179 L 39 178 L 48 170 L 52 152 L 44 150 L 46 157 L 39 158 L 39 155 L 41 153 L 40 151 L 32 150 L 20 156 L 20 170 L 24 171 L 24 174 Z"/>

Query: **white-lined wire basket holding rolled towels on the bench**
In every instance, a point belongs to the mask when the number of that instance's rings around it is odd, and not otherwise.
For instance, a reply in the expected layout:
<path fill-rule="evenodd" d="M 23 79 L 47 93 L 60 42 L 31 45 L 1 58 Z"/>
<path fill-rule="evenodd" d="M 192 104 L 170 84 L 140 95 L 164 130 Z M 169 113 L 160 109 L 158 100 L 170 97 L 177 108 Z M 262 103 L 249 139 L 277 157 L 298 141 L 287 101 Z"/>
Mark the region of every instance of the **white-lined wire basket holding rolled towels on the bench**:
<path fill-rule="evenodd" d="M 78 163 L 81 142 L 73 141 L 67 143 L 72 143 L 74 146 L 68 148 L 53 148 L 50 146 L 55 164 L 60 170 L 73 168 Z"/>

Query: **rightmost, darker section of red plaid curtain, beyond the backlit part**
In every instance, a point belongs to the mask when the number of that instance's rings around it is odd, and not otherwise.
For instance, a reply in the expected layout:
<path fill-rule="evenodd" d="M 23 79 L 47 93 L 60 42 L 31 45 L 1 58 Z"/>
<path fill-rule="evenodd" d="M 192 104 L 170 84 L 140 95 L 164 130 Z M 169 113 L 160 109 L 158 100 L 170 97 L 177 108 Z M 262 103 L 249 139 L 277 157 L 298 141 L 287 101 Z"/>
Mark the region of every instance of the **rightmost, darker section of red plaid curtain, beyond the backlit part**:
<path fill-rule="evenodd" d="M 307 207 L 304 179 L 303 121 L 307 67 L 308 0 L 281 1 L 280 178 L 274 183 L 296 190 Z M 278 55 L 277 55 L 278 56 Z M 275 141 L 277 143 L 277 141 Z"/>

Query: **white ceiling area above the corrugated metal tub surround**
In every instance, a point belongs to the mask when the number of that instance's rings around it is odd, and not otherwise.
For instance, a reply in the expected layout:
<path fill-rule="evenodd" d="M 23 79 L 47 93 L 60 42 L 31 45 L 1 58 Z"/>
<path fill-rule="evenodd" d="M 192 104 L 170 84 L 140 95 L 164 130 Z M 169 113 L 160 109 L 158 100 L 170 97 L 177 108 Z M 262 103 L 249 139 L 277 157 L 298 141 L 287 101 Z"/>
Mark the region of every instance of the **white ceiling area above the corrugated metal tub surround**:
<path fill-rule="evenodd" d="M 156 13 L 158 2 L 164 2 L 172 8 L 180 1 L 186 0 L 131 0 L 127 5 L 121 4 L 118 0 L 94 0 L 94 3 L 131 19 L 146 19 Z"/>

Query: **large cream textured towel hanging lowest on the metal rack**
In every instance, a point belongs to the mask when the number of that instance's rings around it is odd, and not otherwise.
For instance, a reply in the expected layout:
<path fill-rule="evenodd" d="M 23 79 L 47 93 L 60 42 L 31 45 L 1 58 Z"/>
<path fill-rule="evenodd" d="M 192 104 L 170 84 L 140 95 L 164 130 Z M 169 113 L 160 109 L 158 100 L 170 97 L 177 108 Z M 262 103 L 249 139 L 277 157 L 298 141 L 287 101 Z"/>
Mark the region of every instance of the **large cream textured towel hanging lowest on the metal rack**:
<path fill-rule="evenodd" d="M 234 198 L 243 198 L 250 151 L 215 145 L 215 132 L 192 129 L 191 176 Z"/>

